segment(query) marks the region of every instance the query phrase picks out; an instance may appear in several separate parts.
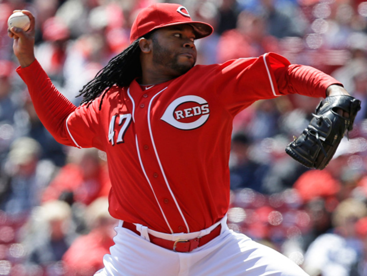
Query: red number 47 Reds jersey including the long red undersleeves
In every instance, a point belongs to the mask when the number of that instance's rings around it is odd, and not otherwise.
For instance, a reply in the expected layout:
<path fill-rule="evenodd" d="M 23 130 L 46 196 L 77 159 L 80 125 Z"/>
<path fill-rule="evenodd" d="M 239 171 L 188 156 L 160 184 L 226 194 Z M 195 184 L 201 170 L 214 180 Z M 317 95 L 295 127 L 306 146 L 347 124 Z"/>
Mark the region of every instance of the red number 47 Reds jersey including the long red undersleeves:
<path fill-rule="evenodd" d="M 339 84 L 274 53 L 196 65 L 175 79 L 142 88 L 112 87 L 78 108 L 38 62 L 18 69 L 43 124 L 57 141 L 107 154 L 110 214 L 166 232 L 208 228 L 229 206 L 233 117 L 259 99 L 298 93 L 325 97 Z"/>

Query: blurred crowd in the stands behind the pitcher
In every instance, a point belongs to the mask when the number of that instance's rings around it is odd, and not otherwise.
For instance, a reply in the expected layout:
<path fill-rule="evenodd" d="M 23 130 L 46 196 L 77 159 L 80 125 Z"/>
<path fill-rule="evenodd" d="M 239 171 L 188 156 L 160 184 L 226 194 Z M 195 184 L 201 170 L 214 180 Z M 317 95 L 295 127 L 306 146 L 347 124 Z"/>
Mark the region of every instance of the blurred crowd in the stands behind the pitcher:
<path fill-rule="evenodd" d="M 32 11 L 36 58 L 79 105 L 83 85 L 128 46 L 139 9 L 156 2 L 0 0 L 0 275 L 93 275 L 116 225 L 107 212 L 105 154 L 62 146 L 42 126 L 15 72 L 7 18 Z M 367 1 L 179 2 L 215 29 L 196 41 L 197 63 L 273 51 L 334 76 L 362 101 L 322 171 L 284 151 L 320 99 L 290 95 L 241 112 L 233 123 L 228 225 L 311 276 L 367 275 Z"/>

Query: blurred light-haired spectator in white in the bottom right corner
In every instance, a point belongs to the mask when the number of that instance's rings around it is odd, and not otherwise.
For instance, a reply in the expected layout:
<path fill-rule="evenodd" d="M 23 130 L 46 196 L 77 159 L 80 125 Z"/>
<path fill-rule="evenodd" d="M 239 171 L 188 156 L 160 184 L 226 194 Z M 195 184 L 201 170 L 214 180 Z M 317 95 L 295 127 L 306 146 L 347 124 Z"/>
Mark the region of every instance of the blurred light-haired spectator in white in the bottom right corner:
<path fill-rule="evenodd" d="M 304 270 L 310 276 L 358 275 L 363 245 L 357 239 L 355 224 L 366 215 L 365 203 L 352 198 L 342 201 L 333 213 L 333 232 L 317 237 L 306 251 Z"/>

